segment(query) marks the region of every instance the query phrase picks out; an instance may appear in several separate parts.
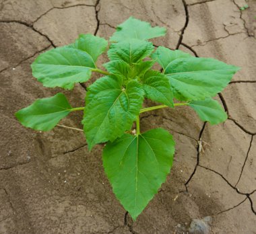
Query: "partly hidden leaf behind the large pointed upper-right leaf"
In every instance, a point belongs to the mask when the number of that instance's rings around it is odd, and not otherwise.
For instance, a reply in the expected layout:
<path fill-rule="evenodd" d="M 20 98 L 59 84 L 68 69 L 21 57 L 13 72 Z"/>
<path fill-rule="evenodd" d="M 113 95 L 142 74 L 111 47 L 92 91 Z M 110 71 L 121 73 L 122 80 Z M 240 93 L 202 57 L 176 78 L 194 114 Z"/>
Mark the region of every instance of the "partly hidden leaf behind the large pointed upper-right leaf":
<path fill-rule="evenodd" d="M 172 61 L 177 58 L 189 58 L 191 57 L 191 54 L 185 53 L 181 50 L 170 50 L 164 46 L 159 46 L 151 57 L 155 59 L 165 71 L 170 67 L 170 63 Z"/>

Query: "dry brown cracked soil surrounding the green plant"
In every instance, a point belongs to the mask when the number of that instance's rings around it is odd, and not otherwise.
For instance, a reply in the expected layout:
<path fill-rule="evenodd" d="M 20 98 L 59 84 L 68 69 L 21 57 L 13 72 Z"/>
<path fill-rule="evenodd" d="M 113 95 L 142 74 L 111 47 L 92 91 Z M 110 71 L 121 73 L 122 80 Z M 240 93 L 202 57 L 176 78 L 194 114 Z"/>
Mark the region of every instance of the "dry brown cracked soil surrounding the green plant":
<path fill-rule="evenodd" d="M 108 38 L 130 15 L 167 28 L 156 46 L 242 67 L 216 97 L 228 112 L 224 124 L 205 124 L 188 107 L 142 116 L 143 130 L 174 134 L 177 151 L 166 183 L 135 222 L 104 175 L 101 145 L 89 152 L 83 132 L 36 132 L 14 117 L 61 91 L 32 77 L 40 52 L 80 33 Z M 0 0 L 0 233 L 256 233 L 255 15 L 255 0 Z M 86 86 L 64 93 L 83 106 Z M 72 113 L 61 123 L 82 128 L 81 118 Z M 189 229 L 205 217 L 212 221 L 204 232 Z"/>

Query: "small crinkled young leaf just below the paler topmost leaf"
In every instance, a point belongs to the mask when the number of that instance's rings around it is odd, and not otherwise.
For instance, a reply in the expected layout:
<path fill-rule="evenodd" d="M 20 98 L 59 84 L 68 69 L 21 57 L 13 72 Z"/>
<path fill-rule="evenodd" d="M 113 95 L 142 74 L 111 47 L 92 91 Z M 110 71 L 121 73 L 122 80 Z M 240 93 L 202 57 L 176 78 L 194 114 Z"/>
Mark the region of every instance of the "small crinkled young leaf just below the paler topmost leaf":
<path fill-rule="evenodd" d="M 126 40 L 111 44 L 110 50 L 108 50 L 108 58 L 111 61 L 125 61 L 125 63 L 131 65 L 149 56 L 153 50 L 154 46 L 151 42 L 131 39 L 129 41 Z"/>

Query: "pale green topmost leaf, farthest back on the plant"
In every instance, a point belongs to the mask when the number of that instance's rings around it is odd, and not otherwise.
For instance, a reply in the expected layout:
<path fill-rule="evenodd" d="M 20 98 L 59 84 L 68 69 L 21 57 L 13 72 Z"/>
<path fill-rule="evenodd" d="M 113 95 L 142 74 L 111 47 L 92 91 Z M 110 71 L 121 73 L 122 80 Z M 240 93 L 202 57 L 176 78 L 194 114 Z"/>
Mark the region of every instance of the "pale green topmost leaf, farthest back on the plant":
<path fill-rule="evenodd" d="M 117 31 L 110 37 L 111 42 L 120 42 L 129 39 L 149 40 L 164 36 L 166 28 L 154 27 L 148 22 L 129 17 L 125 22 L 117 26 Z"/>

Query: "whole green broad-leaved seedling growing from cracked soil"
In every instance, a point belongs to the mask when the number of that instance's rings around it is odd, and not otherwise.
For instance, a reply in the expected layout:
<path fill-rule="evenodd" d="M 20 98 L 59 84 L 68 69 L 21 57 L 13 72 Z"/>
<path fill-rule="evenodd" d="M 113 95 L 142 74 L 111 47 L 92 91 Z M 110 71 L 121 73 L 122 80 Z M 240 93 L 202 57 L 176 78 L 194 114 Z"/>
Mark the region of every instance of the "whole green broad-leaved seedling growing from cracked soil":
<path fill-rule="evenodd" d="M 164 34 L 165 28 L 152 28 L 130 17 L 110 37 L 110 61 L 103 65 L 106 71 L 98 69 L 96 61 L 108 42 L 91 34 L 81 34 L 73 44 L 40 54 L 31 67 L 34 77 L 45 87 L 73 89 L 75 83 L 88 81 L 92 73 L 104 77 L 88 87 L 84 107 L 71 107 L 65 95 L 57 93 L 15 114 L 24 126 L 47 131 L 70 112 L 83 110 L 88 148 L 106 143 L 106 176 L 133 219 L 166 180 L 175 145 L 172 135 L 162 128 L 140 132 L 139 115 L 189 106 L 203 121 L 224 122 L 226 112 L 212 97 L 228 85 L 239 69 L 213 58 L 195 58 L 181 50 L 154 48 L 148 41 Z M 152 69 L 155 63 L 162 67 L 162 73 Z M 144 99 L 160 105 L 143 108 Z M 136 130 L 130 134 L 133 122 Z"/>

